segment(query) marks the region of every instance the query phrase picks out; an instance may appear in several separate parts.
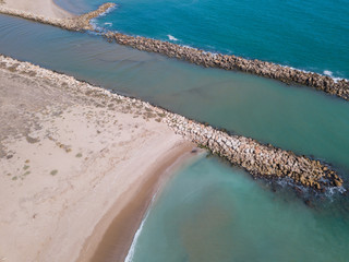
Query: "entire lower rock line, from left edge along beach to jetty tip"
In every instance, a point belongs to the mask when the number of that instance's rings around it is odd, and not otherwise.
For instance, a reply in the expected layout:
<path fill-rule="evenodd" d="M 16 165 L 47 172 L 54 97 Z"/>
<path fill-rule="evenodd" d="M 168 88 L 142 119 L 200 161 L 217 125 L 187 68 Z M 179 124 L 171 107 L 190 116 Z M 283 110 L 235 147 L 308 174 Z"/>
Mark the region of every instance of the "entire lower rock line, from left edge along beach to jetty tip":
<path fill-rule="evenodd" d="M 342 180 L 329 166 L 305 156 L 297 156 L 272 145 L 264 145 L 241 135 L 230 135 L 213 127 L 190 120 L 163 108 L 152 106 L 136 98 L 112 94 L 100 87 L 75 80 L 72 76 L 56 73 L 28 62 L 20 62 L 0 55 L 0 68 L 17 72 L 29 78 L 40 78 L 70 88 L 76 95 L 88 95 L 103 100 L 100 106 L 112 107 L 122 104 L 128 110 L 144 109 L 147 118 L 163 121 L 176 133 L 226 158 L 232 165 L 240 166 L 253 177 L 265 179 L 289 178 L 293 184 L 314 190 L 341 187 Z"/>

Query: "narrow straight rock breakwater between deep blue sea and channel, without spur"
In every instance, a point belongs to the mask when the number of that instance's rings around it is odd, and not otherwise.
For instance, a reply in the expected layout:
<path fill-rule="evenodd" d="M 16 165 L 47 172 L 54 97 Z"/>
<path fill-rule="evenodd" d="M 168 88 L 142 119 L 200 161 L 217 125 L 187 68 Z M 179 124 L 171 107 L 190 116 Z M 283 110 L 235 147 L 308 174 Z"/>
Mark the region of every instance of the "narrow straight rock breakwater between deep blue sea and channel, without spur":
<path fill-rule="evenodd" d="M 349 81 L 347 80 L 335 81 L 329 76 L 318 73 L 304 72 L 272 62 L 260 61 L 257 59 L 250 60 L 237 56 L 210 53 L 196 48 L 146 37 L 133 37 L 113 32 L 108 32 L 105 36 L 109 40 L 115 40 L 118 44 L 131 46 L 140 50 L 163 53 L 206 68 L 237 70 L 279 80 L 288 84 L 293 83 L 311 86 L 349 100 Z"/>

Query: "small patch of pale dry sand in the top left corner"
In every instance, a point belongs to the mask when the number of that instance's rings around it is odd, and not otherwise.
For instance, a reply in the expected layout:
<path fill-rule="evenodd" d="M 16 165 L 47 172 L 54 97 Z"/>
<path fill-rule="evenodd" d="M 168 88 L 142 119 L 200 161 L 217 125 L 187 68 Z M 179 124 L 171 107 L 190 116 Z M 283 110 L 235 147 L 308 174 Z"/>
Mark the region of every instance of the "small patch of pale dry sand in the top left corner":
<path fill-rule="evenodd" d="M 2 3 L 1 3 L 2 2 Z M 65 19 L 73 15 L 58 7 L 52 0 L 0 0 L 4 8 L 31 12 L 51 19 Z"/>

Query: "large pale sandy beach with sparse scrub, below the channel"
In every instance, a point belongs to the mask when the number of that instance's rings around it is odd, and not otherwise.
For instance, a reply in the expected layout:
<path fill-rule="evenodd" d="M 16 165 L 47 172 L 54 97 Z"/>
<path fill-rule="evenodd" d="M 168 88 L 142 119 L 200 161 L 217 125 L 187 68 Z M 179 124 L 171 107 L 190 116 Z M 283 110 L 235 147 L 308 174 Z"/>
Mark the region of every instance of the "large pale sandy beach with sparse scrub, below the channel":
<path fill-rule="evenodd" d="M 3 60 L 0 261 L 88 261 L 110 224 L 124 257 L 160 174 L 194 145 L 146 107 Z"/>

